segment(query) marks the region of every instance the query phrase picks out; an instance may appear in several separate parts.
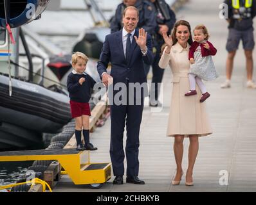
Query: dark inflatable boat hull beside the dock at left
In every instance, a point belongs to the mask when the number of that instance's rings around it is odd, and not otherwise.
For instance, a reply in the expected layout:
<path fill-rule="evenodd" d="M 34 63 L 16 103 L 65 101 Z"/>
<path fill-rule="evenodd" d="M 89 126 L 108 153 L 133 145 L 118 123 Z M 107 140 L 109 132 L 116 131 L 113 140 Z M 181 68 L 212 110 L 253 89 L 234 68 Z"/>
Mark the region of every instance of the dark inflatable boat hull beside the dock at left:
<path fill-rule="evenodd" d="M 0 149 L 36 144 L 42 133 L 57 133 L 70 120 L 67 95 L 12 79 L 9 96 L 8 77 L 0 74 Z"/>

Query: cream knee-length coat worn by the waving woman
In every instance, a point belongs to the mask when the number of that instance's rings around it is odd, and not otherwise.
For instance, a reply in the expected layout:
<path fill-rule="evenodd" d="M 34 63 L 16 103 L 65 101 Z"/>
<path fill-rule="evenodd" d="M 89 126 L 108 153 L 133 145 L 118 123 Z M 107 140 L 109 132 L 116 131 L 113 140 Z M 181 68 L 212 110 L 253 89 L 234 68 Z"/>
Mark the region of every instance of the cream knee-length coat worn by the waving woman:
<path fill-rule="evenodd" d="M 188 44 L 187 48 L 183 49 L 181 45 L 176 43 L 170 49 L 170 54 L 165 53 L 165 50 L 163 51 L 159 61 L 159 66 L 162 69 L 165 69 L 169 64 L 173 74 L 167 136 L 206 136 L 212 134 L 205 102 L 199 102 L 201 91 L 198 86 L 196 85 L 197 95 L 185 97 L 185 93 L 190 90 L 188 81 L 189 47 Z"/>

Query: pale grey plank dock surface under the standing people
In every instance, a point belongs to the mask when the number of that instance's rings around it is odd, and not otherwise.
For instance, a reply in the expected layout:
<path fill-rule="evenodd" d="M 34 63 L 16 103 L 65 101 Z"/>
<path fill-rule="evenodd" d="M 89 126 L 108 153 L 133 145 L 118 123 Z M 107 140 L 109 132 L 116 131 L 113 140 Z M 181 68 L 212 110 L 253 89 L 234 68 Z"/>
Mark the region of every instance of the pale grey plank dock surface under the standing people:
<path fill-rule="evenodd" d="M 166 136 L 172 84 L 169 67 L 163 77 L 163 109 L 154 112 L 145 100 L 140 132 L 140 179 L 145 185 L 113 185 L 112 177 L 99 190 L 86 185 L 75 185 L 68 176 L 62 176 L 53 192 L 256 192 L 256 90 L 246 88 L 246 67 L 242 44 L 235 57 L 232 87 L 221 89 L 225 80 L 225 49 L 227 22 L 219 19 L 219 4 L 223 1 L 190 0 L 177 13 L 177 19 L 188 20 L 194 28 L 205 24 L 210 42 L 217 48 L 214 63 L 221 75 L 205 83 L 211 97 L 206 100 L 214 133 L 199 138 L 199 153 L 194 167 L 194 186 L 185 186 L 185 175 L 179 186 L 172 186 L 176 163 L 173 153 L 174 138 Z M 255 35 L 256 36 L 256 35 Z M 255 38 L 256 39 L 256 38 Z M 255 52 L 253 58 L 256 59 Z M 253 74 L 256 79 L 255 74 Z M 123 142 L 125 142 L 125 133 Z M 91 162 L 110 162 L 110 119 L 91 135 L 98 151 L 91 152 Z M 188 165 L 188 138 L 184 140 L 183 170 Z M 125 147 L 125 143 L 124 143 Z M 126 161 L 125 161 L 126 166 Z M 228 184 L 220 183 L 224 176 Z M 227 175 L 225 175 L 227 174 Z"/>

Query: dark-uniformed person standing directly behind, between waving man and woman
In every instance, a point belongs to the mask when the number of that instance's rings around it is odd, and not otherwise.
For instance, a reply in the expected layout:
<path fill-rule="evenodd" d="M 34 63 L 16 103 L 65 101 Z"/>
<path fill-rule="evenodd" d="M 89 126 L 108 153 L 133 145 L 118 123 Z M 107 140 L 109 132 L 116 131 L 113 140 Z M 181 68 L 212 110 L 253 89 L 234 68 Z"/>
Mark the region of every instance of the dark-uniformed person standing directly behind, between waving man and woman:
<path fill-rule="evenodd" d="M 170 6 L 165 2 L 165 0 L 150 0 L 151 3 L 154 5 L 154 11 L 156 15 L 156 26 L 155 33 L 153 35 L 153 42 L 154 42 L 154 62 L 152 63 L 152 83 L 151 83 L 151 90 L 150 90 L 150 100 L 149 106 L 160 106 L 160 102 L 158 102 L 158 95 L 160 94 L 160 83 L 163 79 L 163 72 L 164 69 L 161 69 L 158 65 L 160 61 L 160 53 L 161 53 L 161 46 L 164 44 L 164 40 L 162 37 L 163 31 L 170 35 L 170 31 L 176 22 L 176 15 L 170 9 Z M 149 70 L 145 70 L 146 75 L 148 74 Z M 159 83 L 159 84 L 158 84 Z"/>

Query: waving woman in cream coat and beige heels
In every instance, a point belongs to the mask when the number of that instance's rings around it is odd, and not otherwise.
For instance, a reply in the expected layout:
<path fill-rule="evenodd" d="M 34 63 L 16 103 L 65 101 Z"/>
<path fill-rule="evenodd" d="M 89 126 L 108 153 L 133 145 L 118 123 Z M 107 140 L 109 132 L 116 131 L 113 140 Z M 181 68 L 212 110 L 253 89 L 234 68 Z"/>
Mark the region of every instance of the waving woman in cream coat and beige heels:
<path fill-rule="evenodd" d="M 178 185 L 183 175 L 182 157 L 183 140 L 189 137 L 188 169 L 186 174 L 186 185 L 192 186 L 193 168 L 199 148 L 198 137 L 212 134 L 210 122 L 205 108 L 205 102 L 199 102 L 201 92 L 196 86 L 197 95 L 185 97 L 189 90 L 188 60 L 189 47 L 192 44 L 190 24 L 185 20 L 179 20 L 174 25 L 172 36 L 167 37 L 163 32 L 163 39 L 167 45 L 161 56 L 159 66 L 165 69 L 170 65 L 172 69 L 172 99 L 170 104 L 169 122 L 167 136 L 174 136 L 174 156 L 177 170 L 172 184 Z"/>

